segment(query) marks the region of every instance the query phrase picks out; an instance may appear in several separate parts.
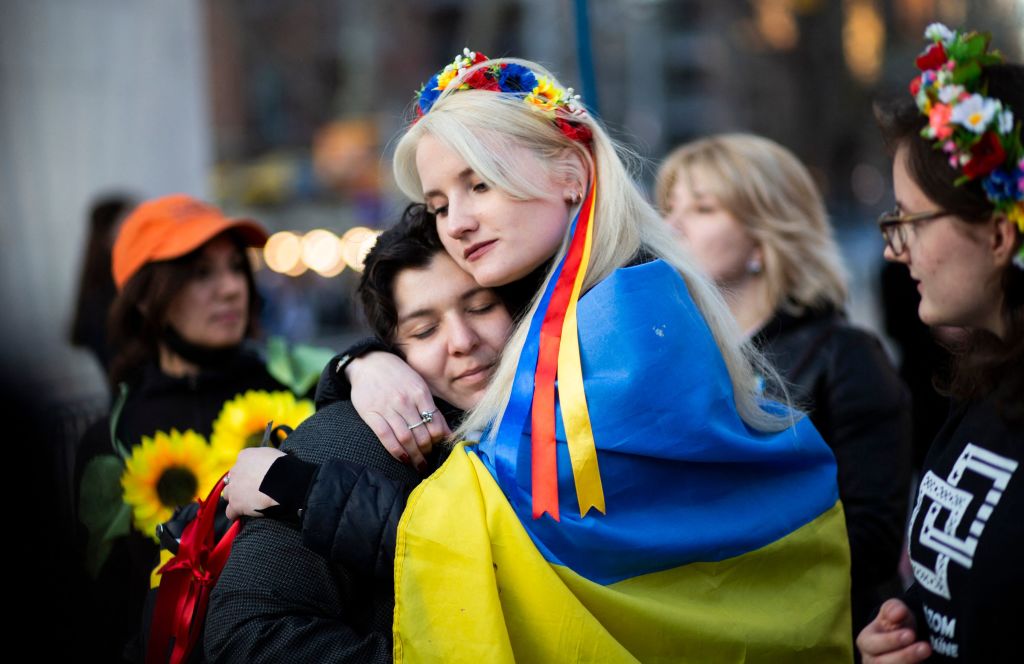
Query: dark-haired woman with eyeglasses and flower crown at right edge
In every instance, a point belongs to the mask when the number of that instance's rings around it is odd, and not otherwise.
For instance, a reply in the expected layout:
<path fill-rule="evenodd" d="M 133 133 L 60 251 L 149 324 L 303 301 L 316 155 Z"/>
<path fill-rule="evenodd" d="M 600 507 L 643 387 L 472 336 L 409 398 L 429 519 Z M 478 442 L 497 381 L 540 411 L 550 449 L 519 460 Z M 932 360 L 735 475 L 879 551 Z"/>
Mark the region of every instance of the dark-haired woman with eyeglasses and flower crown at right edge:
<path fill-rule="evenodd" d="M 925 460 L 909 536 L 914 582 L 857 639 L 865 663 L 1020 659 L 1024 594 L 1024 67 L 939 24 L 912 98 L 878 112 L 897 209 L 887 260 L 918 282 L 929 326 L 963 329 L 949 419 Z"/>

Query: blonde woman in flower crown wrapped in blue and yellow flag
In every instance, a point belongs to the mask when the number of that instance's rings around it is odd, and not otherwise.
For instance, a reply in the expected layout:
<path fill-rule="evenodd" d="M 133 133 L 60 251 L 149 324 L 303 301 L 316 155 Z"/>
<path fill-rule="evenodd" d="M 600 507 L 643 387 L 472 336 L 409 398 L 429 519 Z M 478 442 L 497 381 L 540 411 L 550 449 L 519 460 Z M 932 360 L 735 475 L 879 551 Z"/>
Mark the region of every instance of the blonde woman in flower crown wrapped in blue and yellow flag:
<path fill-rule="evenodd" d="M 480 286 L 526 297 L 467 443 L 406 507 L 395 659 L 849 660 L 831 454 L 761 400 L 605 130 L 539 65 L 468 50 L 417 115 L 399 186 Z M 425 390 L 373 387 L 415 380 L 396 357 L 346 370 L 395 456 L 443 433 Z"/>

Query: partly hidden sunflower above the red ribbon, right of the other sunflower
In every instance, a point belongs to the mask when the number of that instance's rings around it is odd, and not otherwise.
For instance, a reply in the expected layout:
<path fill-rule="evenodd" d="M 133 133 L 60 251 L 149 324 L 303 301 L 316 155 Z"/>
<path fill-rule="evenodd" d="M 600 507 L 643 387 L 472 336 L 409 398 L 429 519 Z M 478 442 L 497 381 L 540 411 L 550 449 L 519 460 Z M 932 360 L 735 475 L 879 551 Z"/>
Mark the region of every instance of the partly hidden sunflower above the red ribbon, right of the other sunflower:
<path fill-rule="evenodd" d="M 230 466 L 239 452 L 257 447 L 263 441 L 267 422 L 292 428 L 313 414 L 313 404 L 307 399 L 296 400 L 290 391 L 250 389 L 224 402 L 220 415 L 213 422 L 210 445 Z"/>

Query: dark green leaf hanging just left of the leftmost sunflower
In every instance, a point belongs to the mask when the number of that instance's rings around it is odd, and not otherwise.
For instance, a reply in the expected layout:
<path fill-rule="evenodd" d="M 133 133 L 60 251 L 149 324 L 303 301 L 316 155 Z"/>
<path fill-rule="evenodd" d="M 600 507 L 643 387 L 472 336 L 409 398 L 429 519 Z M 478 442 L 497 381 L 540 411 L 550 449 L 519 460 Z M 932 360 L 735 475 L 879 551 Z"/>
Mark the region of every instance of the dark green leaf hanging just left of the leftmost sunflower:
<path fill-rule="evenodd" d="M 111 543 L 128 534 L 131 508 L 121 489 L 124 462 L 113 454 L 97 456 L 85 466 L 78 501 L 78 515 L 89 532 L 86 569 L 95 576 L 111 552 Z"/>

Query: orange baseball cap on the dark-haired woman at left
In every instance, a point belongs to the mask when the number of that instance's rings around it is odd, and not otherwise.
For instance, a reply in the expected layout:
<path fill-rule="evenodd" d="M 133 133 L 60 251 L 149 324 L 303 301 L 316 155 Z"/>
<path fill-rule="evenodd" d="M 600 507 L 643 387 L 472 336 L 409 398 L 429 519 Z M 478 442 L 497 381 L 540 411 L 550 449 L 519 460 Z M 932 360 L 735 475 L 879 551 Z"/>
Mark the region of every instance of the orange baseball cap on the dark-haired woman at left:
<path fill-rule="evenodd" d="M 249 247 L 266 244 L 266 231 L 255 220 L 228 218 L 190 196 L 146 201 L 128 215 L 114 242 L 114 283 L 120 290 L 146 263 L 183 256 L 224 231 L 233 231 Z"/>

